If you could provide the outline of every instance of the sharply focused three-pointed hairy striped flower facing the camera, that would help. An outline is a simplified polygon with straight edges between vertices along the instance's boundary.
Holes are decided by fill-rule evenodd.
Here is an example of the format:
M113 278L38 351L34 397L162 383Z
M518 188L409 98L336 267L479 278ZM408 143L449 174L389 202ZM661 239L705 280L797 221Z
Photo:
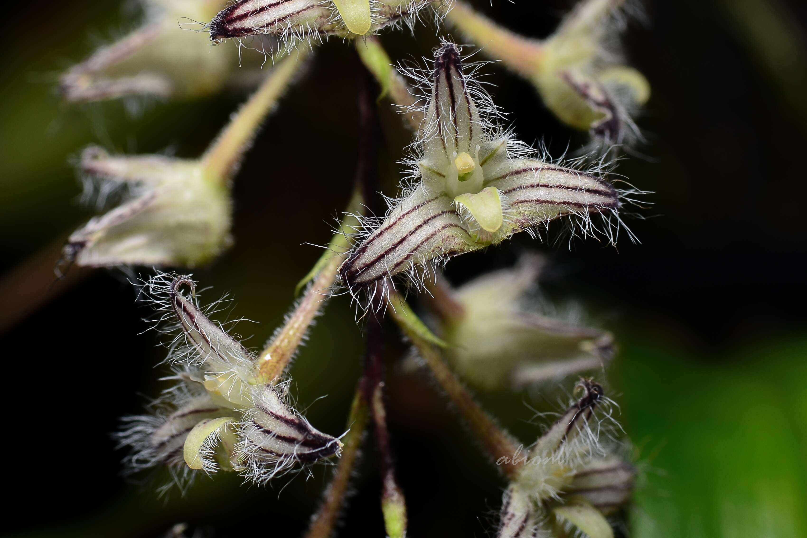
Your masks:
M562 216L575 217L588 235L597 233L592 214L618 222L620 200L608 181L529 156L531 149L493 126L495 106L462 72L458 47L445 43L434 57L412 159L416 181L341 266L343 282L370 286ZM604 234L615 239L610 228Z

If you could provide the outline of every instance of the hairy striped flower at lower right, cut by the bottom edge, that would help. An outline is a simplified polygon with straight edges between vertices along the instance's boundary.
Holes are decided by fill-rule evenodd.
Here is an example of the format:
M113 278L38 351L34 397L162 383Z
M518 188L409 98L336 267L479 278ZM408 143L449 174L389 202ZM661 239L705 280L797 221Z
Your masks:
M600 444L610 415L602 386L581 379L575 391L583 396L528 453L513 455L522 470L504 494L499 538L613 538L605 516L629 501L636 470Z

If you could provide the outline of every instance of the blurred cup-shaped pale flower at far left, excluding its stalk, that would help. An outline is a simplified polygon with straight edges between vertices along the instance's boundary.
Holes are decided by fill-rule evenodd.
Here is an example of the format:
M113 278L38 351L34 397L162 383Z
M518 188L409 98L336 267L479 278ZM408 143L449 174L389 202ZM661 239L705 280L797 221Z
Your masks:
M68 261L93 267L193 266L231 243L229 188L198 161L111 156L88 148L79 169L131 189L120 206L73 232L64 248Z

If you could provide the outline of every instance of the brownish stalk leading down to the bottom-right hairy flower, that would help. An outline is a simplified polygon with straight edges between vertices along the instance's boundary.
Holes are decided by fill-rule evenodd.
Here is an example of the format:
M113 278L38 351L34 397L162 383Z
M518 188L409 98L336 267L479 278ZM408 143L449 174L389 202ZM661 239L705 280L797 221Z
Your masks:
M418 321L413 323L412 319L407 319L413 316L411 309L403 309L399 306L405 304L403 298L397 292L390 293L390 309L395 322L398 323L403 333L412 341L420 353L420 357L424 358L429 369L437 379L445 393L448 394L451 402L457 407L462 418L466 420L471 432L482 443L485 452L495 462L505 461L504 465L497 465L498 468L508 477L515 478L521 464L512 463L513 454L516 453L519 447L518 441L513 438L507 431L500 427L495 420L475 402L470 391L462 384L459 378L454 375L454 372L449 369L445 364L441 352L433 344L426 340L421 330L416 330L413 327L423 326L423 323ZM396 307L397 306L397 307ZM434 337L435 340L437 336ZM504 459L503 459L504 458Z

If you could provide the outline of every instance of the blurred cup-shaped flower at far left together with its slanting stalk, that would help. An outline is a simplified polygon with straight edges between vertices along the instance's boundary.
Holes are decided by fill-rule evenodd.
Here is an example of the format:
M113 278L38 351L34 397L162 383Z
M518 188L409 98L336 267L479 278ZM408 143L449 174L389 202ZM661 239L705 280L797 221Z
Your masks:
M82 153L90 190L126 190L123 203L73 232L63 250L78 265L188 266L210 261L231 243L232 177L266 115L302 65L289 56L199 159Z

